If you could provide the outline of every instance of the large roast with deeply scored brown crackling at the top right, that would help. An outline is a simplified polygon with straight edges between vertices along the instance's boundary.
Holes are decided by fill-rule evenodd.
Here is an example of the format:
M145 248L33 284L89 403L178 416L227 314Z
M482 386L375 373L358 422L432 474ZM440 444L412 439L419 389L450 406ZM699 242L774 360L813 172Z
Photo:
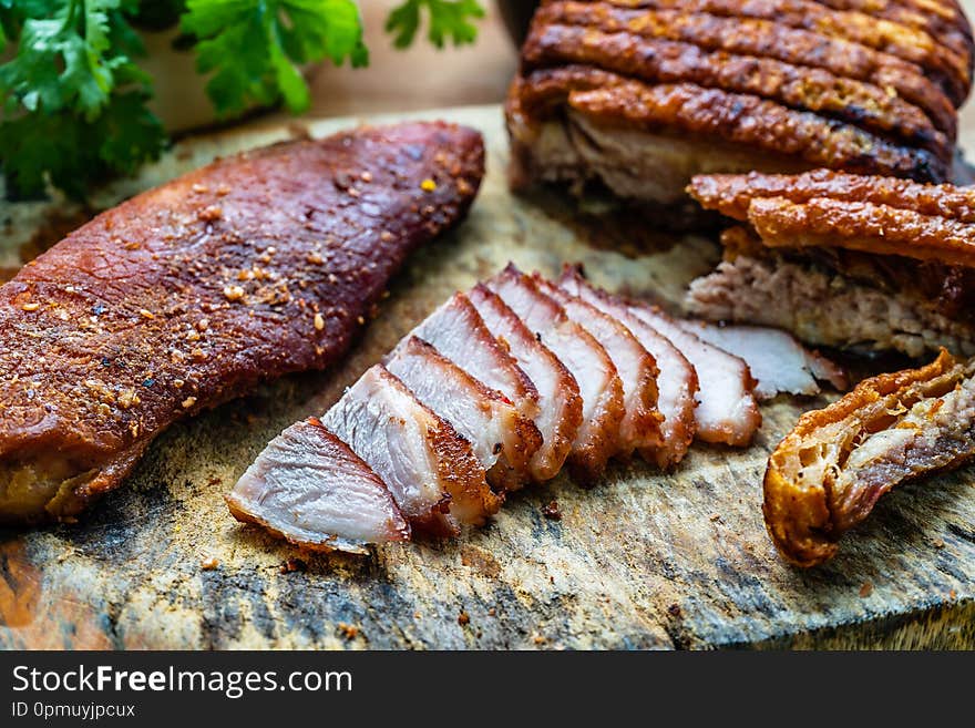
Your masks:
M954 0L892 4L545 2L506 103L512 184L673 207L700 173L945 181L971 28Z

